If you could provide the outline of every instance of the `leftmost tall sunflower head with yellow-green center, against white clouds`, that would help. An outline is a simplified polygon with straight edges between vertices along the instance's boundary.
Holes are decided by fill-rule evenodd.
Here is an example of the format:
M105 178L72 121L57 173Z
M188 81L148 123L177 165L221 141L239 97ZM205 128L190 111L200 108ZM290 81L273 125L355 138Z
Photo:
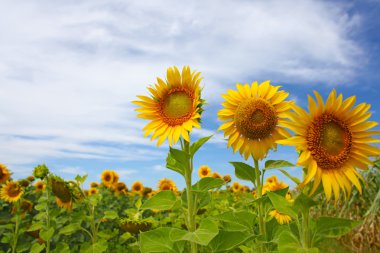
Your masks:
M151 96L137 96L133 101L140 106L136 109L139 118L150 120L143 128L144 137L152 134L151 140L158 138L160 146L166 138L173 146L182 136L190 142L189 132L193 127L200 128L200 118L204 101L200 98L199 72L191 72L183 67L182 74L177 67L167 70L166 82L157 78L155 86L148 87Z

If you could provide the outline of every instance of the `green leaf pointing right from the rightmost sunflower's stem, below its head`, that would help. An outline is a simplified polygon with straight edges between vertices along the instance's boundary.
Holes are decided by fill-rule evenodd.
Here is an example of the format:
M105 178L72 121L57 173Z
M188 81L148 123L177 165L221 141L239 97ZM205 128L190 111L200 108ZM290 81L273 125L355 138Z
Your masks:
M319 217L317 219L315 233L320 237L336 238L349 233L352 229L362 223L363 221L334 217Z

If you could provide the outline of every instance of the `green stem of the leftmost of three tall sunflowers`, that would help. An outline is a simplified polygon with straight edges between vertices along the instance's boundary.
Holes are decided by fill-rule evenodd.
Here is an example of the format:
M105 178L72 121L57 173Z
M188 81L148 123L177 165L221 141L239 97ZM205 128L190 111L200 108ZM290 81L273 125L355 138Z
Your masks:
M183 151L190 155L190 143L184 141ZM195 225L195 201L193 201L193 192L191 191L191 175L193 172L193 160L189 159L189 167L185 170L185 181L186 181L186 194L187 194L187 219L189 232L194 232L196 229ZM197 244L195 242L190 242L191 253L197 253Z

